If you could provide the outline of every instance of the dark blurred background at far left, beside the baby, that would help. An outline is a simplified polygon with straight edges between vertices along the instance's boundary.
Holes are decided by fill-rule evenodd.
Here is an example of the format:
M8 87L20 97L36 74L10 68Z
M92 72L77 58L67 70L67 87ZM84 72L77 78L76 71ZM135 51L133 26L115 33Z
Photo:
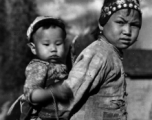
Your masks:
M26 31L35 16L32 0L0 0L0 105L22 92L24 70L32 58Z

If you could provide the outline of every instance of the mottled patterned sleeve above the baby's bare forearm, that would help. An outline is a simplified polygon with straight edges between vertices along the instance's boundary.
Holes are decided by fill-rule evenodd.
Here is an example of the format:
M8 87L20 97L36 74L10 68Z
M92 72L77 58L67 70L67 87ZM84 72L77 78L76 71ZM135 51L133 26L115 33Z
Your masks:
M24 84L24 95L31 102L31 94L34 89L43 89L47 75L47 65L41 62L30 63L25 70L26 80Z

